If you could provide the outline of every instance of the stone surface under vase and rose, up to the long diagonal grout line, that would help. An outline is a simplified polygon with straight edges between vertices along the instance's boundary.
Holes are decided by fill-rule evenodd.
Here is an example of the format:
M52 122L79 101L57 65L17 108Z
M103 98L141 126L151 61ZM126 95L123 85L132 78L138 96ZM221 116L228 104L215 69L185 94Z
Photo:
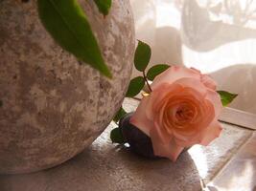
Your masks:
M126 99L128 112L138 102ZM168 159L138 157L114 145L109 132L79 156L58 167L34 174L0 176L1 191L198 191L201 182L212 179L236 153L252 131L223 124L223 134L208 147L195 146L174 163Z

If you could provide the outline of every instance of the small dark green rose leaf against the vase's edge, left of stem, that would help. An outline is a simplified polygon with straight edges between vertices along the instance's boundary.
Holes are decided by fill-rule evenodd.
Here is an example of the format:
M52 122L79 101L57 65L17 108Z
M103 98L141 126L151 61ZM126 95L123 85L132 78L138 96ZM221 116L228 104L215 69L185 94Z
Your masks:
M138 95L140 91L143 89L144 85L145 85L145 80L142 76L137 76L131 79L128 84L127 96L132 97L132 96Z

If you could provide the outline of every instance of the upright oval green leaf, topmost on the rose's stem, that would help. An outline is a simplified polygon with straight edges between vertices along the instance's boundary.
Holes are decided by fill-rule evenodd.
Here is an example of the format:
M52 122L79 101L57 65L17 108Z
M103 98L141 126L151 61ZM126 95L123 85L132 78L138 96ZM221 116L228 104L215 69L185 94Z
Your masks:
M144 72L148 64L150 63L150 60L151 47L148 44L139 41L134 56L135 68L140 72Z

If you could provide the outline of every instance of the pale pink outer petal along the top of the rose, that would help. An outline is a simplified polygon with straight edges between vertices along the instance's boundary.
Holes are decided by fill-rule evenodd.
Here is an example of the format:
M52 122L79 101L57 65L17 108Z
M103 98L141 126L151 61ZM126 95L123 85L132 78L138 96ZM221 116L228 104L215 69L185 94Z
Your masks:
M183 77L192 77L192 78L197 78L198 80L200 80L200 75L191 69L188 69L185 67L180 67L180 66L171 66L165 72L157 75L154 78L154 80L151 84L151 88L152 88L152 90L154 90L162 83L172 84L176 80L183 78Z

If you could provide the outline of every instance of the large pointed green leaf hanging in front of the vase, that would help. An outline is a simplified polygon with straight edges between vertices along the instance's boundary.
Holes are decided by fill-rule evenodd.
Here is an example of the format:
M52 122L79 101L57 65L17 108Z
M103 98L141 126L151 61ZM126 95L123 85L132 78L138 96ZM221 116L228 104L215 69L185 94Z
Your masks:
M77 0L37 0L38 13L45 29L67 52L111 77L91 30L86 15Z

